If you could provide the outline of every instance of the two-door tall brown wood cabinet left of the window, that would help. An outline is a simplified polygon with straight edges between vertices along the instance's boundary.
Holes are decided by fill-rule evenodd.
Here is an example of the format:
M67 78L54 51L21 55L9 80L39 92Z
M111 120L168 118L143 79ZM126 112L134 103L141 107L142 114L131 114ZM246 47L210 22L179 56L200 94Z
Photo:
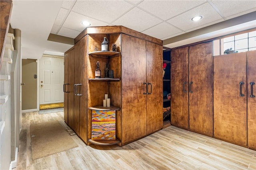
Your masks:
M171 124L213 136L212 42L171 51Z

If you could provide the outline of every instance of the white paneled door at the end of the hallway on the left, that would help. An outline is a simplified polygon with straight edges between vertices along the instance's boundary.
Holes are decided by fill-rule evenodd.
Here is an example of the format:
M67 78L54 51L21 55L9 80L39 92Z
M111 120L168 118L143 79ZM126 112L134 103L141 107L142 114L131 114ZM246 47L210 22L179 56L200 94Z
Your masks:
M40 104L64 102L64 59L40 59Z

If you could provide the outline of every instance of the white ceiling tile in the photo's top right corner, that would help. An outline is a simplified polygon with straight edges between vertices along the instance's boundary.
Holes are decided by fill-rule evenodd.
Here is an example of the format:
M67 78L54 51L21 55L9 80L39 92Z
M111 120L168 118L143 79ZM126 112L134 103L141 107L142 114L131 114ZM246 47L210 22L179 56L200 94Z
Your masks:
M256 8L255 0L212 0L212 3L220 10L224 17L232 16L240 12Z

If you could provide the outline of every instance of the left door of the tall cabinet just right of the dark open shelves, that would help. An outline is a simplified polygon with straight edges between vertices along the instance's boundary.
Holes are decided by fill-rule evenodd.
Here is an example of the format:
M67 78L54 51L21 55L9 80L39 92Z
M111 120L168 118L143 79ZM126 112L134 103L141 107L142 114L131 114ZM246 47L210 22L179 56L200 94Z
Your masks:
M171 124L188 129L188 47L171 51L171 94Z

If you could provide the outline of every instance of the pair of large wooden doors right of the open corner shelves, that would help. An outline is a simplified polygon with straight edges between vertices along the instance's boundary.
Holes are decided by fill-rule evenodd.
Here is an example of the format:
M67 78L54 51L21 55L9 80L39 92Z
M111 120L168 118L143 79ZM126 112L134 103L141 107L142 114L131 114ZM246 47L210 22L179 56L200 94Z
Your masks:
M125 34L122 41L122 141L127 143L163 126L162 46Z

